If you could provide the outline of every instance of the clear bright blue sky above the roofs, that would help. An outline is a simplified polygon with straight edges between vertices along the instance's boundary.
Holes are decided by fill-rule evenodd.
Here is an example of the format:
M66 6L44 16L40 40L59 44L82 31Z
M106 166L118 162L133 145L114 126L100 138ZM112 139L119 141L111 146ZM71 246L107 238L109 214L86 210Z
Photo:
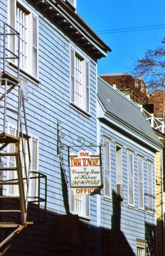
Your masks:
M143 57L147 49L159 46L165 37L164 0L77 0L77 13L112 49L98 61L98 74L130 72L134 61ZM137 27L145 30L101 32Z

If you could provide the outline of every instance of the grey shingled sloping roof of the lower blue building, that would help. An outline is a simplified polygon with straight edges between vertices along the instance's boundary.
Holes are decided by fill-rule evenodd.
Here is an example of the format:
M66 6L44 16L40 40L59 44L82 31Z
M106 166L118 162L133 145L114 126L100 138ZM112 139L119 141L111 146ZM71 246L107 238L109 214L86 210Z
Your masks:
M98 99L104 108L104 116L98 116L98 118L108 120L156 150L163 147L145 116L141 113L138 104L129 100L123 93L114 89L100 77L98 77Z

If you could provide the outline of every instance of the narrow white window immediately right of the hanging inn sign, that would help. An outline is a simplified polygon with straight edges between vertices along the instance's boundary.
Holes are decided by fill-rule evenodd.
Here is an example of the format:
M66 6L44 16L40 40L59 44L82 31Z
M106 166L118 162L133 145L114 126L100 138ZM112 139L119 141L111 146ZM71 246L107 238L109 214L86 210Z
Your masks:
M104 138L104 196L111 197L110 141Z

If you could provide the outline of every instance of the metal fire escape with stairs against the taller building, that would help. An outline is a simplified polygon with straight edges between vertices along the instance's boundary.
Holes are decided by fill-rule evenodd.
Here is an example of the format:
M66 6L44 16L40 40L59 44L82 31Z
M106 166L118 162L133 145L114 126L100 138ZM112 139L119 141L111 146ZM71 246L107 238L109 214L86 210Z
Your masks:
M9 42L15 46L13 49L17 49L17 52L15 49L11 51L12 47L8 47ZM7 234L3 241L0 241L0 254L3 255L12 245L15 236L33 224L33 221L27 221L28 200L31 203L35 202L38 209L40 202L44 202L44 207L46 207L46 192L45 198L40 198L40 179L44 179L43 186L46 187L46 177L41 173L35 173L36 179L39 179L38 198L36 196L29 198L29 182L30 179L34 179L34 175L31 175L33 172L31 172L24 92L20 85L20 35L15 29L4 23L0 43L2 67L0 70L0 230L3 234ZM13 74L6 71L10 61L16 70ZM17 134L14 136L7 129L7 122L11 120L17 126ZM28 146L28 164L26 163L24 138L26 138ZM12 152L8 152L8 148L12 148ZM9 164L11 157L15 163L13 166ZM15 174L13 175L12 172ZM7 191L10 188L15 191L15 186L19 188L17 189L18 193L12 196L8 195L10 193Z

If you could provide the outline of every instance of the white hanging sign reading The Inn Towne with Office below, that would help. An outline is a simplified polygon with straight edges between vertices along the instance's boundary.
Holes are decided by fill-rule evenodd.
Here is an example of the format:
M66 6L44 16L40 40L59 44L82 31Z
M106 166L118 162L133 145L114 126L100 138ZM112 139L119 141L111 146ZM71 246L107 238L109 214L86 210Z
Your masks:
M89 195L102 188L100 155L90 151L70 153L70 188L75 194Z

